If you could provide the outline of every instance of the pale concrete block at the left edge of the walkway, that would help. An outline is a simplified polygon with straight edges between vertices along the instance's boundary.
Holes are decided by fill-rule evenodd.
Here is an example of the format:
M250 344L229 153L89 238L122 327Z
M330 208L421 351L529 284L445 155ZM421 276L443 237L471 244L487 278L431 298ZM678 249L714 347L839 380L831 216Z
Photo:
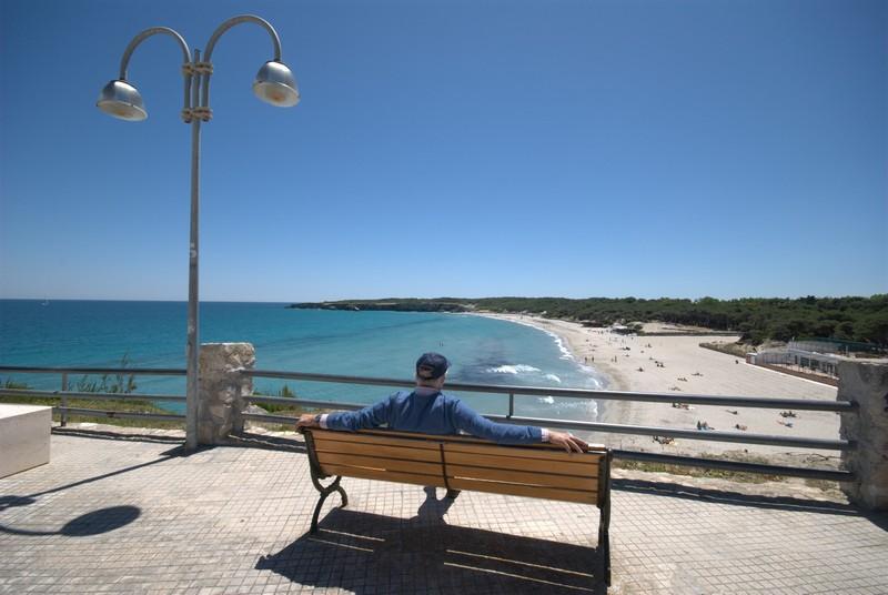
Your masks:
M52 407L0 404L0 477L49 463Z

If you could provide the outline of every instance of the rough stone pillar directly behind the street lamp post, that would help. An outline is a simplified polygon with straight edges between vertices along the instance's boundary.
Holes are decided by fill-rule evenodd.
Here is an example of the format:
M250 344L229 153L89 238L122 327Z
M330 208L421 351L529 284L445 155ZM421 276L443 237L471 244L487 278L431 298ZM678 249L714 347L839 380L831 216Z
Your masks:
M241 374L252 369L256 351L250 343L205 343L200 351L198 444L223 444L232 432L243 430L243 397L252 394L253 379Z

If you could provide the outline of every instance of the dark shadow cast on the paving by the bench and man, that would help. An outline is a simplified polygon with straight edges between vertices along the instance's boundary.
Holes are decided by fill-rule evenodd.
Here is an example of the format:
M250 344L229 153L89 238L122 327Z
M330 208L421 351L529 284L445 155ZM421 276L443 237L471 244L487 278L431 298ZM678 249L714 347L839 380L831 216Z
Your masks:
M594 547L448 525L441 518L446 498L438 502L410 520L334 508L315 535L263 556L255 568L359 595L606 593Z

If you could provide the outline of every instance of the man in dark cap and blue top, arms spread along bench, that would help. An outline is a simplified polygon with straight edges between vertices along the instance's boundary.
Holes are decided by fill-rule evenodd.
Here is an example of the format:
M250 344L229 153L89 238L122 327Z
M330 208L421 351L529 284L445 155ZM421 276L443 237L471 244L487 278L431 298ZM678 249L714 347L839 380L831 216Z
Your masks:
M416 387L398 391L360 411L304 413L296 427L322 427L354 432L387 425L391 430L423 434L458 434L500 444L548 442L565 451L582 453L588 444L567 432L532 425L500 424L480 415L456 397L441 392L450 362L440 353L424 353L416 361Z

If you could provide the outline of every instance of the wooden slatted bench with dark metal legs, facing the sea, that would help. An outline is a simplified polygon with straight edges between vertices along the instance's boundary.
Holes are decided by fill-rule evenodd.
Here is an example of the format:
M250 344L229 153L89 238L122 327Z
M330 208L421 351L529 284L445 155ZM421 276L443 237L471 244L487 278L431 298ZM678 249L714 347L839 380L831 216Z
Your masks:
M598 557L610 584L610 451L591 445L566 453L551 444L502 445L471 436L435 436L387 430L334 432L301 428L309 452L312 483L321 493L312 516L317 532L321 506L339 492L343 477L436 486L593 504L601 510ZM324 486L321 480L335 476Z

